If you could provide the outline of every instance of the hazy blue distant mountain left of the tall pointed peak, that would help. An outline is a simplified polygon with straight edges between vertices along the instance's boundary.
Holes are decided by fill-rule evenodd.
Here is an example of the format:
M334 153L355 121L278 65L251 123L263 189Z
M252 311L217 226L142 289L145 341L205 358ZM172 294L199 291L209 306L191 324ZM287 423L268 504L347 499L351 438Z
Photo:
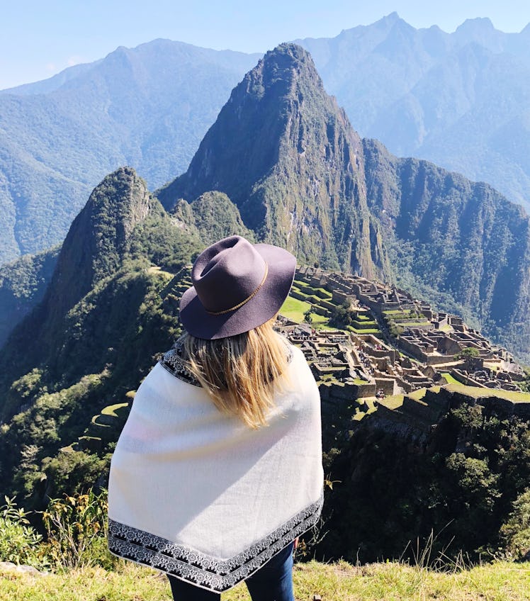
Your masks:
M257 57L154 40L1 92L0 263L61 242L119 165L150 186L182 172Z

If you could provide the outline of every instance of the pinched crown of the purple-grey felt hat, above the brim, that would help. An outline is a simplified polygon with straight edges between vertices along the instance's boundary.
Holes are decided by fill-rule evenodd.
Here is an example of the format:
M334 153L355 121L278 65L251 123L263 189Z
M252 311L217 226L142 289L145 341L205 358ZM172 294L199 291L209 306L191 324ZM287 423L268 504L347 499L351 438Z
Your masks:
M242 236L230 236L199 254L191 281L205 310L215 315L252 298L266 272L266 262L254 245Z

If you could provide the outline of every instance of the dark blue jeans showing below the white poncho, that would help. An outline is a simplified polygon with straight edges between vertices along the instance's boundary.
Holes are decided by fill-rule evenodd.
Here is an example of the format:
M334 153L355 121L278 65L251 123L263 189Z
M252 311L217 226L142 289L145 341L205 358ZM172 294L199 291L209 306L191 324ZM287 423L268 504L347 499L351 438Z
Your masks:
M220 593L205 590L168 575L174 601L219 601ZM288 544L245 580L252 601L295 601L293 543Z

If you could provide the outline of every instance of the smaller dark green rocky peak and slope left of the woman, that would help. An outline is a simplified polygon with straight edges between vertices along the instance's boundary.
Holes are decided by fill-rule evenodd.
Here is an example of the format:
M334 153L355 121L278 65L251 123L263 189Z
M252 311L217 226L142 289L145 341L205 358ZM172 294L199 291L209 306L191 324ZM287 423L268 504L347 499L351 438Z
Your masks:
M38 504L72 478L95 481L103 465L96 455L60 448L79 437L90 444L91 418L127 403L153 356L171 347L179 332L179 274L202 246L133 169L120 168L96 186L64 240L43 300L0 354L4 490Z

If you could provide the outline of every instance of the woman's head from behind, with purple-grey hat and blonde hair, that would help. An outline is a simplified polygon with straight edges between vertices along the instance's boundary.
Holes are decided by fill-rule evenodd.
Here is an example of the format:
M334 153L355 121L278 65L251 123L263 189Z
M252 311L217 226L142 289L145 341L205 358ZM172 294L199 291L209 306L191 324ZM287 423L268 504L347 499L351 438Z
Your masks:
M181 298L189 368L220 410L250 427L266 424L286 373L288 350L272 322L295 269L285 249L230 236L199 254Z

